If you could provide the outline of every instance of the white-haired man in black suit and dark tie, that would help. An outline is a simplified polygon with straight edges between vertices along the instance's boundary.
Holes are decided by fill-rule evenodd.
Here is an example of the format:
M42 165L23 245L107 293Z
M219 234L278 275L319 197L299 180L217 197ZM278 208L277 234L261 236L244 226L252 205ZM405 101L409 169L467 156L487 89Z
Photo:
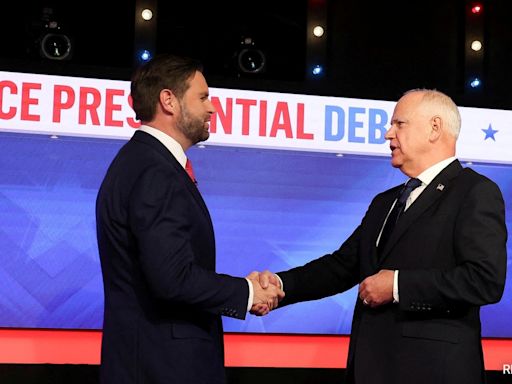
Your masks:
M332 254L277 276L260 274L263 286L270 282L286 292L280 305L359 284L350 383L485 381L480 307L503 293L505 208L498 186L455 158L460 125L457 106L445 94L404 94L386 139L391 164L418 179L416 188L408 188L407 199L398 197L404 186L377 195ZM253 313L259 314L257 308Z

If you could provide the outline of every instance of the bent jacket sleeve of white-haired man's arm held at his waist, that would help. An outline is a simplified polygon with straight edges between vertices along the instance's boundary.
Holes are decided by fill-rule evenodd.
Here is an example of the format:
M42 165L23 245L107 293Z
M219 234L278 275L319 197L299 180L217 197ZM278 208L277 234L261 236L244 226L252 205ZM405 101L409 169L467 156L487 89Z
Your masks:
M401 270L400 308L452 309L498 302L507 267L507 229L502 194L481 179L465 196L453 231L455 267L448 270ZM423 308L424 309L424 308Z

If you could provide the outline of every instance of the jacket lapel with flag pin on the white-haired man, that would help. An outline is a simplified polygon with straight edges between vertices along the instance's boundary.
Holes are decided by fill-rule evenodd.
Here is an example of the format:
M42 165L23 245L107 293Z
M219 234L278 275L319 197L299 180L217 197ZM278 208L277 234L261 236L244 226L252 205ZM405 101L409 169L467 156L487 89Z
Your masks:
M443 169L418 196L414 203L402 214L397 222L391 236L384 248L380 262L382 262L389 254L397 241L407 232L408 228L438 199L440 199L446 191L450 189L453 179L462 171L462 165L458 160L450 163ZM388 208L389 209L389 208ZM384 214L385 215L385 214Z

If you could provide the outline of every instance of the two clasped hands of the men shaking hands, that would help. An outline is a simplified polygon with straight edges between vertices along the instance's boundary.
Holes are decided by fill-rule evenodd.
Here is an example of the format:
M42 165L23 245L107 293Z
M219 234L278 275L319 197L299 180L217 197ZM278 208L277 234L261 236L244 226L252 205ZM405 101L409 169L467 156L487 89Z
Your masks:
M270 271L251 272L246 276L252 283L253 302L250 312L256 316L264 316L277 308L284 298L281 281L276 274Z

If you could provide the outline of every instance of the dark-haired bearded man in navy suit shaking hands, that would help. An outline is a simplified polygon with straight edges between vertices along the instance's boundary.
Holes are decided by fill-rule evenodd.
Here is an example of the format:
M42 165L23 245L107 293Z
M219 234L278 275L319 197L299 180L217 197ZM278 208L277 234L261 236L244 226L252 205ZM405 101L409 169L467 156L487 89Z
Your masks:
M253 275L215 272L210 215L185 170L185 151L208 139L215 112L200 63L155 57L134 73L131 96L142 126L96 202L101 383L221 384L221 315L244 319L253 304L271 309L283 293L262 289Z

